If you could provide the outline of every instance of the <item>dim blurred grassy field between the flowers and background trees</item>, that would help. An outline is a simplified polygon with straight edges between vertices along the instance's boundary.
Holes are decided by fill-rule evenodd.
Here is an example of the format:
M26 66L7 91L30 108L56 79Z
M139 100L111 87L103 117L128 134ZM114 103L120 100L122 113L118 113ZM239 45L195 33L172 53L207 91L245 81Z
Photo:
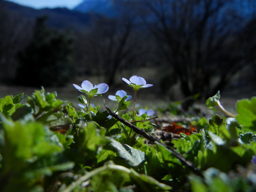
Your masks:
M136 107L147 107L153 110L157 108L167 108L169 103L172 102L170 98L176 98L175 101L182 101L184 98L180 92L179 86L175 85L172 90L173 92L168 94L161 94L159 88L159 69L154 67L143 67L136 71L124 71L120 72L116 75L115 85L109 86L109 90L106 93L102 94L102 97L94 97L92 99L92 103L95 105L99 105L103 107L103 99L105 99L106 104L110 108L116 108L117 103L108 99L108 95L115 95L117 90L124 90L128 95L132 95L133 98L133 90L131 87L128 87L127 84L122 80L122 77L129 79L132 75L143 76L148 84L153 84L152 87L147 89L141 89L137 93ZM244 77L243 77L244 78ZM243 79L242 78L242 79ZM72 85L77 84L81 85L84 80L89 80L92 84L105 83L104 78L101 76L79 76L76 77L72 82L68 83L65 87L45 87L46 92L56 91L58 94L58 99L67 100L71 102L76 108L78 108L78 100L77 97L82 92L76 90L76 88ZM39 90L40 87L23 87L23 86L15 86L15 85L5 85L0 83L0 98L5 97L6 95L17 95L22 92L25 95L30 96L34 90ZM170 94L173 94L172 97ZM255 83L251 81L247 81L243 84L241 81L241 74L237 74L234 76L233 80L230 84L228 84L224 90L220 92L222 105L230 110L231 112L235 112L236 101L243 98L251 98L252 96L256 96L256 86ZM133 99L132 99L133 100ZM24 99L23 102L26 102ZM132 101L133 102L133 101ZM201 108L205 108L205 100L197 101L197 104ZM132 108L132 104L130 106Z

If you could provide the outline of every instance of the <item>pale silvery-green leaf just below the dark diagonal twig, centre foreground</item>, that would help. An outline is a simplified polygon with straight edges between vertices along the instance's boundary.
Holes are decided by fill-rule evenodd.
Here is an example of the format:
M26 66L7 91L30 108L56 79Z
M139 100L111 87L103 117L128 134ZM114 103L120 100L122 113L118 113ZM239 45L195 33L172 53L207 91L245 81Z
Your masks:
M126 162L133 166L139 166L146 161L146 155L139 149L130 147L129 145L119 143L115 139L110 138L111 145L118 151L118 156L126 160Z

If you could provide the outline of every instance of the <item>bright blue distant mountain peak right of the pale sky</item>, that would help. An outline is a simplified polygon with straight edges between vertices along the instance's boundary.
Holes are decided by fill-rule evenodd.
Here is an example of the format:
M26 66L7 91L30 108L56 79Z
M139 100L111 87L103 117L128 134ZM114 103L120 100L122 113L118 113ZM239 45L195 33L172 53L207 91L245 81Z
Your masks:
M101 15L115 16L116 10L112 0L84 0L73 10L80 12L93 12Z

